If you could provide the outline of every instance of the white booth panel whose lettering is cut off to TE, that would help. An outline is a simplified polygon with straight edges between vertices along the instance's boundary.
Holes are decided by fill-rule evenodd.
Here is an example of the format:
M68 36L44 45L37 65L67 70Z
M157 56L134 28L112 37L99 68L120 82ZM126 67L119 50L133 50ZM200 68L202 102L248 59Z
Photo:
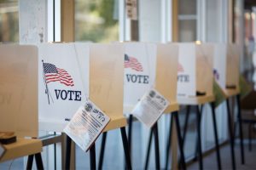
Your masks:
M178 43L177 96L195 96L195 43Z

